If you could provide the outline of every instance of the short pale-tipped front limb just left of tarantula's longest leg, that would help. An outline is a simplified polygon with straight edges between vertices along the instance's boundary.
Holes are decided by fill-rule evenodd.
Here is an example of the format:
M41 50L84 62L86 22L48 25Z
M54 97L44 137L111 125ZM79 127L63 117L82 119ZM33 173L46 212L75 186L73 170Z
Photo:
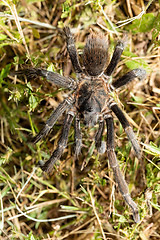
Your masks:
M106 151L106 143L102 141L102 135L104 131L104 119L99 119L99 128L95 136L95 145L100 154Z

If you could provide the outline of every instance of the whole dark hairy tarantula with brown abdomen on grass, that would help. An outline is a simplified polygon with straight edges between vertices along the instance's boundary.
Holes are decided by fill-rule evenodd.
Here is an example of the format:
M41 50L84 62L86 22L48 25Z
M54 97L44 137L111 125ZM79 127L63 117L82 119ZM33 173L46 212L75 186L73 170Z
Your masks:
M17 75L24 74L27 77L42 76L54 84L73 90L73 93L53 111L52 115L47 120L46 125L35 138L35 143L37 143L43 136L46 136L60 115L67 110L58 146L52 153L50 159L42 166L42 169L50 173L54 163L61 157L63 150L67 145L68 134L73 119L76 157L78 157L82 147L80 119L83 118L84 123L87 126L94 126L96 123L99 124L95 136L95 145L100 153L105 152L105 143L102 141L102 135L106 124L109 163L113 169L115 180L118 183L121 194L133 210L134 221L138 222L140 218L137 205L130 197L128 186L119 169L115 154L112 112L115 113L121 122L139 159L141 158L141 149L129 122L122 110L110 96L110 93L114 89L131 82L136 77L140 80L144 79L146 71L141 68L134 69L110 84L108 80L121 57L124 46L126 45L125 38L122 39L122 41L119 41L116 45L111 61L108 64L108 42L106 38L103 35L91 33L84 47L82 68L78 60L78 54L70 28L65 27L64 33L70 59L77 75L77 81L40 68L24 69L16 72Z

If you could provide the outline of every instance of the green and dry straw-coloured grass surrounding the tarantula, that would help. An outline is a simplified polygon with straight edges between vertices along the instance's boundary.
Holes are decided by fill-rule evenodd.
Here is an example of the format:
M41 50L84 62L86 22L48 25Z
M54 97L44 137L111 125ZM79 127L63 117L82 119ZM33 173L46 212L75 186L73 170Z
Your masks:
M136 1L130 6L126 1L0 2L1 239L160 238L160 14L159 3L149 3L140 19L116 28L121 25L118 21L140 14L142 6ZM146 80L135 80L113 95L127 112L143 151L139 162L115 118L117 158L138 204L138 224L115 185L107 154L99 155L94 148L97 126L89 130L81 124L83 148L78 161L72 151L72 125L68 147L52 175L36 167L56 147L63 116L43 141L34 145L30 139L68 91L45 79L14 78L10 70L27 65L75 78L59 30L67 25L75 32L80 55L90 29L108 33L111 52L127 31L129 44L113 77L137 67L147 70ZM106 134L105 130L104 140Z

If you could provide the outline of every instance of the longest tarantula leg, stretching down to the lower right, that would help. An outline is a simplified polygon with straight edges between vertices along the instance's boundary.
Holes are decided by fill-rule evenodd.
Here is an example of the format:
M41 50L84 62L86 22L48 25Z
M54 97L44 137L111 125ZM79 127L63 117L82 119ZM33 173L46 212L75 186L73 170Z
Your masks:
M122 196L124 197L125 201L127 202L127 204L132 208L133 218L134 218L134 221L137 223L140 221L138 208L136 203L132 200L129 194L128 186L119 169L117 157L114 150L114 123L113 123L112 115L107 114L105 120L107 124L107 152L108 152L109 163L113 169L113 173L115 176L115 180L118 183L119 190Z

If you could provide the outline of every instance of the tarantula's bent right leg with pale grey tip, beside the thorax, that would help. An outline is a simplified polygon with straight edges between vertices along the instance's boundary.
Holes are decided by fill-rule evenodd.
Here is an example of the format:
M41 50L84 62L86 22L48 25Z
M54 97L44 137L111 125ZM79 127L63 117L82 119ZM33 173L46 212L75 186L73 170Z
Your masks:
M146 71L142 68L136 68L131 70L130 72L123 75L121 78L117 79L112 83L112 86L114 88L119 88L129 82L131 82L133 79L138 78L139 80L143 80L146 77Z

